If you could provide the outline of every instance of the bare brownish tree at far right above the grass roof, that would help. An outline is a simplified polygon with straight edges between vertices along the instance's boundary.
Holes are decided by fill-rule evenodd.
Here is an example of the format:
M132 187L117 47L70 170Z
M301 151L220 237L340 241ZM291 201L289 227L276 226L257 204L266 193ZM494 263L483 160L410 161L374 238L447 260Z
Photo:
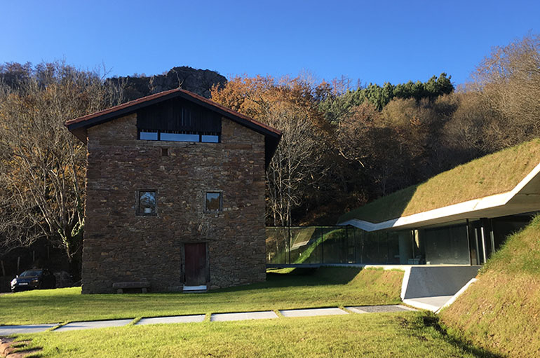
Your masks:
M490 151L540 135L540 35L493 48L471 80L468 92L478 93L493 114L483 133Z

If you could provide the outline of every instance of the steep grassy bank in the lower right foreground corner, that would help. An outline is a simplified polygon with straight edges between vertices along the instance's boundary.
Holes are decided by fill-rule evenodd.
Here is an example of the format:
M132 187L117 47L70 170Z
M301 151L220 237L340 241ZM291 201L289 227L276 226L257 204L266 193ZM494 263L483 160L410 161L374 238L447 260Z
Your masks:
M441 312L461 339L509 357L540 355L540 216L508 237L478 282Z

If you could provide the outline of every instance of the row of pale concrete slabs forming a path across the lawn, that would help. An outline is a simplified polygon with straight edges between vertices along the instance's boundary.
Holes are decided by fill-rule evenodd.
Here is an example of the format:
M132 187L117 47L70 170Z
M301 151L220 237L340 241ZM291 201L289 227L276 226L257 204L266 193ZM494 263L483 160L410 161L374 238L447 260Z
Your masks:
M372 312L397 312L414 310L403 305L379 305L379 306L356 306L347 307L347 310L356 313L372 313ZM349 315L349 312L339 308L306 308L302 310L280 310L283 317L315 317L315 316L331 316L331 315ZM250 319L276 319L279 318L273 311L259 312L232 312L232 313L213 313L210 316L210 322L227 322L227 321L245 321ZM188 323L188 322L203 322L205 315L185 315L185 316L170 316L170 317L149 317L142 318L136 325L140 324L170 324L170 323ZM71 322L60 326L53 331L75 331L79 329L95 329L104 327L119 327L126 326L133 322L133 319L109 319L103 321L87 321L87 322ZM20 333L38 333L58 326L58 324L32 324L24 326L0 326L0 336L9 336L11 334Z

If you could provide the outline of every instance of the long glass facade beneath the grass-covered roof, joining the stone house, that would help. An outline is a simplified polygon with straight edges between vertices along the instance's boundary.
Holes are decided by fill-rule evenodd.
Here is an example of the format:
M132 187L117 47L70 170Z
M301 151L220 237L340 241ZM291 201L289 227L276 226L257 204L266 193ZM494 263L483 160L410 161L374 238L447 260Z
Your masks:
M266 227L266 263L481 265L532 215L367 232L352 226Z

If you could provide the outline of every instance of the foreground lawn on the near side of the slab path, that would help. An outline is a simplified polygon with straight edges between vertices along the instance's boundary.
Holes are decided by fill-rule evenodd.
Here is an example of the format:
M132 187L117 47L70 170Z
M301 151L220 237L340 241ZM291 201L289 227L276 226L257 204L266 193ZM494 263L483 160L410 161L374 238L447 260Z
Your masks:
M125 326L20 336L41 357L490 357L421 312Z

